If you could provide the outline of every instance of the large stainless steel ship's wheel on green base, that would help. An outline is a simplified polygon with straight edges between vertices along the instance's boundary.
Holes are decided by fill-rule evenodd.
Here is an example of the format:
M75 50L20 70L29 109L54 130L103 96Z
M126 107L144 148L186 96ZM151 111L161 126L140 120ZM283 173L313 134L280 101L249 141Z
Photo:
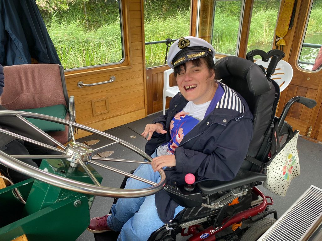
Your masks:
M4 152L0 151L0 163L7 166L8 168L11 168L17 172L23 173L25 175L31 176L35 179L41 180L45 183L49 183L61 188L69 189L75 192L81 192L86 194L92 194L92 195L98 195L98 196L105 196L105 197L118 197L118 198L135 198L135 197L143 197L152 195L158 191L160 191L166 182L166 175L163 169L161 168L159 173L161 176L161 180L159 183L154 183L149 180L140 178L138 176L129 174L127 172L118 170L116 168L110 167L105 164L101 164L97 162L98 160L104 160L104 161L116 161L116 162L124 162L124 163L138 163L138 164L151 164L152 158L147 155L145 152L140 150L139 148L131 145L130 143L123 141L119 138L116 138L112 135L109 135L105 132L75 123L71 121L62 120L56 117L42 115L42 114L36 114L36 113L30 113L30 112L21 112L21 111L0 111L0 116L16 116L17 118L24 121L26 124L28 124L31 128L33 128L35 131L41 133L44 137L50 139L56 146L61 147L62 149L52 147L50 145L38 142L36 140L15 134L13 132L0 129L0 132L6 133L8 135L14 136L16 138L22 139L24 141L32 142L34 144L37 144L42 147L47 147L48 149L52 149L55 151L58 151L61 153L61 155L7 155ZM57 122L60 124L68 125L70 130L74 128L78 128L81 130L85 130L87 132L97 134L99 136L102 136L104 138L108 138L112 140L113 142L95 149L92 149L91 147L79 143L75 141L75 137L71 131L71 138L72 141L69 142L66 146L64 146L62 143L58 142L51 136L49 136L47 133L43 132L41 129L34 126L32 123L24 119L24 117L30 117L30 118L36 118L41 119L45 121L52 121ZM120 144L124 147L127 147L128 149L136 152L140 156L144 157L148 162L144 161L133 161L133 160L123 160L123 159L112 159L112 158L99 158L99 157L92 157L93 152L97 152L100 149L103 149L105 147L109 147L114 144ZM66 159L70 162L71 167L78 167L78 165L81 165L86 173L90 176L94 184L88 184L88 183L82 183L79 181L74 181L68 178L64 178L58 175L54 175L51 173L48 173L46 171L43 171L41 169L38 169L36 167L27 165L19 159ZM98 165L100 167L106 168L108 170L117 172L119 174L129 176L132 178L135 178L139 181L151 184L151 187L149 188L143 188L143 189L119 189L119 188L111 188L111 187L103 187L99 184L99 182L96 180L94 175L90 172L89 168L86 164L92 164L92 165Z

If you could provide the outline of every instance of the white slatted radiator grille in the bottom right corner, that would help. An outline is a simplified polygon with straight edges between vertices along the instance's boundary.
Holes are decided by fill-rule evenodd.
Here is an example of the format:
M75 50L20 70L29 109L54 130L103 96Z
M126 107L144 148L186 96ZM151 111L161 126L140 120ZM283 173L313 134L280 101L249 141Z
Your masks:
M300 241L322 217L322 189L310 188L258 241Z

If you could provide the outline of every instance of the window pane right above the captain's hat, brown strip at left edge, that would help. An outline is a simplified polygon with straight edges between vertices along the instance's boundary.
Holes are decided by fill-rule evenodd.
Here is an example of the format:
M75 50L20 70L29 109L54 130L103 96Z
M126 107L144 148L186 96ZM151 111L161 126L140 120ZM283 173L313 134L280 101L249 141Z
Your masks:
M198 37L212 43L216 53L237 56L243 7L243 0L201 0Z

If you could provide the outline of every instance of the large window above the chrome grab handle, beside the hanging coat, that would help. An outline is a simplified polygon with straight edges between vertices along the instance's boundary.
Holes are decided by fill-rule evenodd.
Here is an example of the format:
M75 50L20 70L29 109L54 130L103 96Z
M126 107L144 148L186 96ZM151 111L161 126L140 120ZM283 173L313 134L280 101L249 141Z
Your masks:
M36 0L65 69L123 62L121 1Z

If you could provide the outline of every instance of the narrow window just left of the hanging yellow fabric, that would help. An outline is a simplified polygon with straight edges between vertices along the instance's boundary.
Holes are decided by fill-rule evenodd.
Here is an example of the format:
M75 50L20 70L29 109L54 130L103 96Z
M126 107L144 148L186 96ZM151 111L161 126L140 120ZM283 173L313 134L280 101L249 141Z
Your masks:
M261 49L268 52L273 47L280 0L255 0L251 14L247 52Z

